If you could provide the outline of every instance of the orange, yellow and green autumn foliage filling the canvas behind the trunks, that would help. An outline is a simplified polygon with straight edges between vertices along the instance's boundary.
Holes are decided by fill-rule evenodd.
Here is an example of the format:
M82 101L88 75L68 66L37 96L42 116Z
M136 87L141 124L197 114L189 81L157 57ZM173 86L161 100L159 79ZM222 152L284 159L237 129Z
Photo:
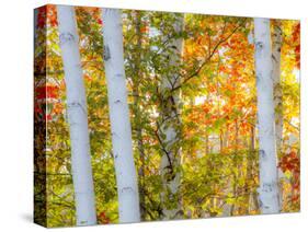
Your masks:
M159 171L162 146L158 134L163 97L160 85L170 73L179 73L181 80L172 91L181 96L176 146L181 148L183 218L258 214L259 134L252 19L187 13L183 32L176 34L172 27L174 15L123 11L125 71L144 220L160 220L162 216ZM118 211L103 66L101 32L104 25L99 8L76 8L76 16L88 101L98 221L115 223ZM281 22L284 130L278 167L282 211L290 212L298 211L300 202L300 24L288 20ZM44 162L50 227L72 225L76 220L66 84L57 26L54 5L38 9L34 117L36 124L47 125L46 131L36 131L35 140L42 144L42 136L47 135ZM183 38L184 50L182 61L170 66L174 49L168 47L168 39L174 37ZM36 148L36 153L42 147ZM42 171L39 159L35 172Z

